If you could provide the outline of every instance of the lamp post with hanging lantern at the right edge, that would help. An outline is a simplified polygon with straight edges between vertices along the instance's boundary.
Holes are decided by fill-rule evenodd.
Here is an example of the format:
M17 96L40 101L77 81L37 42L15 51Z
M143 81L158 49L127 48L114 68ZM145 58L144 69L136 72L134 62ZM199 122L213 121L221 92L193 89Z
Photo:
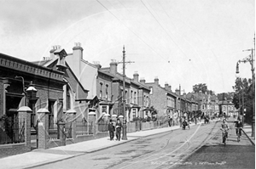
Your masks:
M253 81L253 89L255 86L255 80L254 80L254 67L253 67L253 48L252 49L248 49L248 50L244 50L244 51L252 51L252 54L250 54L249 56L247 56L245 59L241 59L238 60L237 64L236 64L236 73L239 73L239 64L240 63L247 63L249 62L251 64L251 70L252 70L252 81ZM243 110L242 110L243 111ZM252 121L252 137L255 138L255 94L253 96L253 121Z

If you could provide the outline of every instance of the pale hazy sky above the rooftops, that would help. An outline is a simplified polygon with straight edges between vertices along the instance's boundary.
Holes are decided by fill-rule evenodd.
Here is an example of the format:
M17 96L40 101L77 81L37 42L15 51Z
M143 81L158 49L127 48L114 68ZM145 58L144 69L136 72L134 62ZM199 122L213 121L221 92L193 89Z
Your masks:
M0 0L0 53L42 60L60 45L84 48L84 60L160 85L206 83L215 93L233 92L236 77L251 78L249 63L236 63L254 48L254 0ZM118 70L122 73L122 65Z

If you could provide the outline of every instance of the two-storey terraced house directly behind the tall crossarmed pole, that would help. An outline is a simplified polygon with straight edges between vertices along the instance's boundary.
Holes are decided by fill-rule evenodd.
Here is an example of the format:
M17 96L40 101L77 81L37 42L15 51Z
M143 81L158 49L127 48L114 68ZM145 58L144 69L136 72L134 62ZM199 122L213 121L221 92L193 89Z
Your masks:
M102 68L100 71L108 76L112 76L112 101L113 111L110 115L124 115L127 121L132 121L135 117L145 117L150 113L149 93L150 89L138 82L138 74L134 74L133 79L125 76L125 89L123 88L123 75L118 72L118 63L110 63L110 67ZM123 112L123 91L125 90L125 112Z

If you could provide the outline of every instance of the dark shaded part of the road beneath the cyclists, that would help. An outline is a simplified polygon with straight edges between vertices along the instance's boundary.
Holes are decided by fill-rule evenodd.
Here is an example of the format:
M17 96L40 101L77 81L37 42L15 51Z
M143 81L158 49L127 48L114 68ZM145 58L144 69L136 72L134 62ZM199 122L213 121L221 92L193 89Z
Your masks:
M201 149L184 161L173 164L172 168L255 168L255 146L244 133L241 134L241 142L238 143L234 124L229 122L229 125L226 146L221 143L222 133L218 131Z

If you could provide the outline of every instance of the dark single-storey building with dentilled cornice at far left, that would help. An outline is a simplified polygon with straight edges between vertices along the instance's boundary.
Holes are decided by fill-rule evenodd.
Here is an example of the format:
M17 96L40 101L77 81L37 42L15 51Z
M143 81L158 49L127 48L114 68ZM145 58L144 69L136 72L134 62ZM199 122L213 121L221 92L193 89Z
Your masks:
M55 127L53 121L57 121L58 108L62 98L63 72L51 70L22 59L16 59L5 54L0 54L1 68L1 107L0 115L8 113L9 110L17 110L20 106L27 104L32 109L32 114L36 114L40 108L52 108L50 111L50 127ZM24 87L28 87L30 82L37 89L37 100L28 100L23 92L22 77Z

